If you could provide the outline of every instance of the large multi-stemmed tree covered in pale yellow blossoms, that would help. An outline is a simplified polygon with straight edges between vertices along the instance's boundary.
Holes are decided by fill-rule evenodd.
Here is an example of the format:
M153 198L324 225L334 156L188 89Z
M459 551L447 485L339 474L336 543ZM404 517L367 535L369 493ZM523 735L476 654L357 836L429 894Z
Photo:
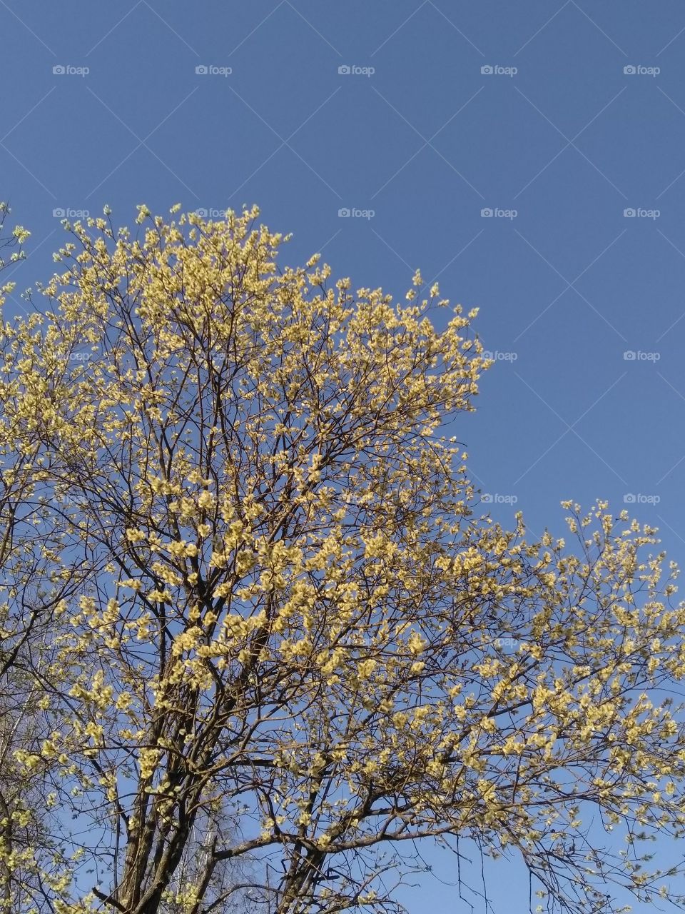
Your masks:
M476 311L438 331L419 272L394 305L279 269L257 218L67 225L47 305L3 328L71 588L50 732L15 752L58 779L50 909L398 910L419 839L518 854L550 909L679 900L638 855L685 822L656 531L566 502L573 551L479 515L445 426L490 365Z

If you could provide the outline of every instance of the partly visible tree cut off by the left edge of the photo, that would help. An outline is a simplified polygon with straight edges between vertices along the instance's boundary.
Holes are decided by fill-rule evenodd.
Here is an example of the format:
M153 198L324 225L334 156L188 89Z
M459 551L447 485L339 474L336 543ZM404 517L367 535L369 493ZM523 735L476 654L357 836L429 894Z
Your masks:
M0 204L0 233L9 214ZM0 236L0 271L24 259L28 235L16 226ZM14 287L0 288L0 304ZM57 804L54 766L37 753L52 717L44 673L54 654L55 611L88 570L79 571L80 558L76 566L64 560L69 544L59 510L50 510L45 449L14 409L20 384L12 378L11 335L2 334L0 356L0 909L14 911L47 903L48 874L56 866L57 878L63 875L46 814Z

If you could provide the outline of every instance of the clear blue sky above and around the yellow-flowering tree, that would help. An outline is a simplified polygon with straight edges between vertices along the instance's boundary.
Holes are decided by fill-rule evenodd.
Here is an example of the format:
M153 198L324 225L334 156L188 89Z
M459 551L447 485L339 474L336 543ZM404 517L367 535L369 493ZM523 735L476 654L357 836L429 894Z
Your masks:
M284 262L397 296L420 267L499 354L454 431L492 514L564 535L561 499L634 496L685 560L679 0L0 0L0 36L17 291L54 269L53 210L104 204L258 203ZM526 909L521 869L489 871ZM469 910L422 886L412 914Z

